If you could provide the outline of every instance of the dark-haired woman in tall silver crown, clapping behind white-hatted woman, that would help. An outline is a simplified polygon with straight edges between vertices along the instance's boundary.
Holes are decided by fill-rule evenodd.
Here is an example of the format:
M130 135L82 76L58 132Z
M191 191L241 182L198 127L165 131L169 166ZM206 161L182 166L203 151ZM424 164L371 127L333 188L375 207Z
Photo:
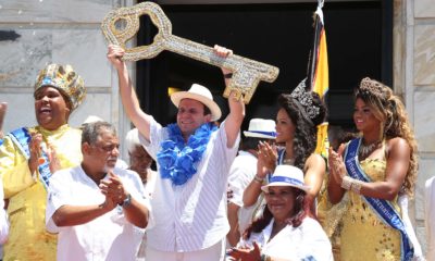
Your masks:
M315 198L318 197L326 171L326 161L316 148L316 126L322 124L326 108L319 95L307 90L302 80L290 94L278 97L279 110L276 114L276 144L285 148L276 149L263 144L260 146L259 158L265 158L269 172L273 173L276 165L294 165L304 173L304 182L311 187L307 192L306 207L315 216ZM244 194L244 204L252 206L261 192L261 185L269 178L266 174L258 173Z

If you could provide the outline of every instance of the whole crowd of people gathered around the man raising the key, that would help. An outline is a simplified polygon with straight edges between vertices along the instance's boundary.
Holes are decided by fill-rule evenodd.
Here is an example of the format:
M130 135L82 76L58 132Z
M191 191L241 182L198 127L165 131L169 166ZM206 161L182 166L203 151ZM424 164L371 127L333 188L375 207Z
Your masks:
M233 91L221 121L198 84L171 95L176 122L159 124L140 109L124 53L109 46L107 57L135 125L123 144L127 164L112 124L69 125L86 97L70 65L39 72L37 126L3 135L0 103L3 260L424 260L407 209L417 141L388 86L361 80L358 133L334 140L325 158L314 150L326 107L306 79L277 97L275 120L250 119L241 138L243 100ZM222 73L227 85L232 72ZM435 259L434 184L425 189L427 260ZM328 208L319 219L321 197Z

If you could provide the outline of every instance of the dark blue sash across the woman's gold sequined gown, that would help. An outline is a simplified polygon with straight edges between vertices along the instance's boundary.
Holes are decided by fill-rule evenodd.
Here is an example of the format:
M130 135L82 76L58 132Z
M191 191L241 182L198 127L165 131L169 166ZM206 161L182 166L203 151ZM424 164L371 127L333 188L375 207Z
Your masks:
M349 176L352 178L362 182L372 182L364 171L362 171L358 161L358 149L361 145L361 138L352 139L347 146L345 151L346 170ZM400 247L402 250L400 251L400 260L412 260L414 256L413 247L409 240L407 232L405 231L405 225L400 219L400 214L397 213L391 203L388 200L365 197L362 195L361 197L371 207L371 209L374 210L377 217L380 217L385 224L388 224L393 228L400 232Z

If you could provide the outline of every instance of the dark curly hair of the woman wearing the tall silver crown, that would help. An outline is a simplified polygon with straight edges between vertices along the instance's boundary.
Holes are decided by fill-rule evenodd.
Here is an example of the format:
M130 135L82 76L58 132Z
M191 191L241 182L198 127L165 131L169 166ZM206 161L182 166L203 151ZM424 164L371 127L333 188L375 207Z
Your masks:
M312 105L319 108L319 114L313 119L307 119L301 112L298 100L290 95L279 95L278 104L284 109L295 125L295 139L293 150L295 154L295 166L304 170L304 163L311 153L315 150L316 145L316 126L323 123L326 115L326 107L320 99L319 95L310 91ZM303 110L303 108L302 108Z

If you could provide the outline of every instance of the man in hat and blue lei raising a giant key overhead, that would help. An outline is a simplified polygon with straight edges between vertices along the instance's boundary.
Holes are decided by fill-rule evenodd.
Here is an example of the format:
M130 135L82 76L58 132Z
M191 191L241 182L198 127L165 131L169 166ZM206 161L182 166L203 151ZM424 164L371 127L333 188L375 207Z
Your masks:
M215 47L221 57L231 53ZM171 96L178 108L176 124L162 127L141 111L129 79L125 51L110 46L108 58L117 71L124 109L140 133L140 141L158 163L152 197L156 226L147 232L147 261L223 260L226 187L236 157L245 105L232 92L229 114L217 128L221 110L210 90L194 84ZM225 75L225 70L223 69ZM229 80L231 74L225 75Z

